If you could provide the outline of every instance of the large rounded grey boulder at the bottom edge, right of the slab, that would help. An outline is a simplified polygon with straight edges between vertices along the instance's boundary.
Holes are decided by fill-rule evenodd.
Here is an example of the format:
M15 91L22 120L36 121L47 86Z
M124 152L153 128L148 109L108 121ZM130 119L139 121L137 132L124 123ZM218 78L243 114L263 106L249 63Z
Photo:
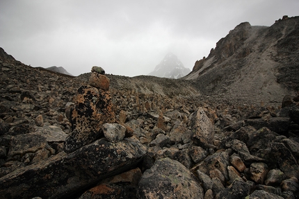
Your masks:
M169 158L159 159L143 173L138 198L203 198L195 176L183 164Z

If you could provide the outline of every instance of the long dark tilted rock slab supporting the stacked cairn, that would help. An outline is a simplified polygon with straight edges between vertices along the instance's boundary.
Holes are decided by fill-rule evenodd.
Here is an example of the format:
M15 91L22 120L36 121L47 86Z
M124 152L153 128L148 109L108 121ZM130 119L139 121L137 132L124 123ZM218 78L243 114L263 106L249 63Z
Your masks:
M137 139L99 139L73 153L59 153L0 178L1 198L65 198L99 180L122 173L147 153Z

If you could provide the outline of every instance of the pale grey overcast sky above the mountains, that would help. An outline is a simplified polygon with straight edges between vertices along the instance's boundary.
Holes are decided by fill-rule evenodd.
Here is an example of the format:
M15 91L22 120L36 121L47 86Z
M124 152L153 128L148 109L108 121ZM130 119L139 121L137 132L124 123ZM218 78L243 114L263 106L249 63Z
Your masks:
M1 0L0 47L74 76L94 65L147 75L169 52L192 70L241 22L271 26L298 10L298 0Z

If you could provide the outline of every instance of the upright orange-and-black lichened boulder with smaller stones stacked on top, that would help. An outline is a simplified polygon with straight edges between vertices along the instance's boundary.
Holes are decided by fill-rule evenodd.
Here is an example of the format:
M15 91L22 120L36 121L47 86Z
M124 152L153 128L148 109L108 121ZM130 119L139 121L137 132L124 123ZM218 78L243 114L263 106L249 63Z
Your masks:
M110 80L101 67L92 67L91 71L89 85L79 87L75 105L70 110L72 132L65 140L67 153L99 139L102 125L115 122L111 94L108 91Z

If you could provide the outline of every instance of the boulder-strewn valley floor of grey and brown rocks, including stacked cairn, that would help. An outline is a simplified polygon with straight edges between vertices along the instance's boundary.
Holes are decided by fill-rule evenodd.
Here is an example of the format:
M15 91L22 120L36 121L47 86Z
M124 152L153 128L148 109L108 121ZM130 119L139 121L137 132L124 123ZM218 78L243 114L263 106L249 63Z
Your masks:
M298 97L215 104L186 82L0 66L0 198L298 197Z

